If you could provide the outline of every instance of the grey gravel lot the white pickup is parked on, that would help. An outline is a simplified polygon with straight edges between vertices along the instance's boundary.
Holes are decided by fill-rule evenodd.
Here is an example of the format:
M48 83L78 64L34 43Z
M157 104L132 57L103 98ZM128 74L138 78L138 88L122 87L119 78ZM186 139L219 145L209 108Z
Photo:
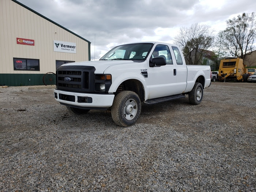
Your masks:
M0 191L256 191L256 83L142 106L127 128L30 87L0 88Z

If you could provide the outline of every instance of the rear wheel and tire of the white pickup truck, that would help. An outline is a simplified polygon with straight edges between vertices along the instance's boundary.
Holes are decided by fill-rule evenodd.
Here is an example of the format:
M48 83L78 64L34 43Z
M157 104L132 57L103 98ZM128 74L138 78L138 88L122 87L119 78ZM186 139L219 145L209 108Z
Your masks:
M193 89L188 93L189 103L192 105L199 105L203 99L203 86L196 82Z

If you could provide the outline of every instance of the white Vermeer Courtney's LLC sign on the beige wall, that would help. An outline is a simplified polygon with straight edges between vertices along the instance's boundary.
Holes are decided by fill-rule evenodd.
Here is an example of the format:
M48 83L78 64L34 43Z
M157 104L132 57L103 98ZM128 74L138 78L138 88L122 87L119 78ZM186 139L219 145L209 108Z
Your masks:
M53 50L56 52L76 53L76 43L53 40Z

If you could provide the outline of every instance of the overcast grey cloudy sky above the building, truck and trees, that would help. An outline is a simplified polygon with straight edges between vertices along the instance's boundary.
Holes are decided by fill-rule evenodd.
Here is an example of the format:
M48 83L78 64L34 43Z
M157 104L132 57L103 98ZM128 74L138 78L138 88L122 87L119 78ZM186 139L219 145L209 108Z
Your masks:
M18 1L90 41L91 60L124 43L172 43L180 27L192 23L209 25L217 33L227 19L256 12L255 0Z

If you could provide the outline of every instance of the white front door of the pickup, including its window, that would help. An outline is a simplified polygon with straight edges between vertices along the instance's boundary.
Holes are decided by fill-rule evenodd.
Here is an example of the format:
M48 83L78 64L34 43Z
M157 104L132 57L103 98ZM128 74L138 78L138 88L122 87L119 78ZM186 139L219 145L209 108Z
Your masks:
M155 57L163 57L166 60L166 65L163 66L148 66L147 88L149 89L149 98L165 97L169 95L180 94L180 88L177 85L177 68L176 62L173 63L173 57L167 45L159 44L155 46L153 53L150 56L149 63ZM185 89L184 89L185 90Z

